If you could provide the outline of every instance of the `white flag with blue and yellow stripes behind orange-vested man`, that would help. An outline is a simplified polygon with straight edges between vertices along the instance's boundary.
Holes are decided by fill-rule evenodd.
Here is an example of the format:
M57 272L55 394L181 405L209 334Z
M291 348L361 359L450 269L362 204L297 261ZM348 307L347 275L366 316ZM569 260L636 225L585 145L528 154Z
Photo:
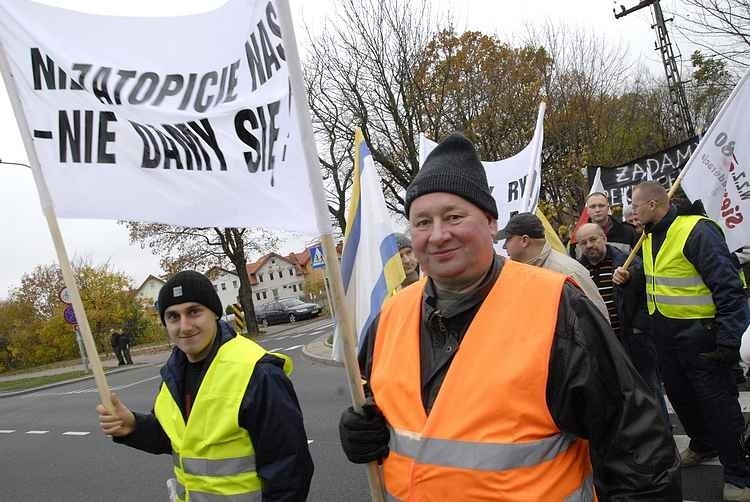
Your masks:
M406 275L380 175L359 128L354 134L354 184L346 221L341 275L360 346L383 302Z

